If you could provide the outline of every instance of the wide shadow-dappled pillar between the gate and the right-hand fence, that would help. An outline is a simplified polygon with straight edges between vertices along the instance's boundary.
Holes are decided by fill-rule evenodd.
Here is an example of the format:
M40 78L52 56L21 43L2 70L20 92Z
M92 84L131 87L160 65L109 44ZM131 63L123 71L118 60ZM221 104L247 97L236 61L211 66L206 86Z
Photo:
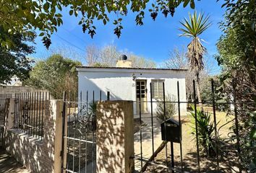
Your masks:
M132 172L133 102L98 102L96 115L96 172Z

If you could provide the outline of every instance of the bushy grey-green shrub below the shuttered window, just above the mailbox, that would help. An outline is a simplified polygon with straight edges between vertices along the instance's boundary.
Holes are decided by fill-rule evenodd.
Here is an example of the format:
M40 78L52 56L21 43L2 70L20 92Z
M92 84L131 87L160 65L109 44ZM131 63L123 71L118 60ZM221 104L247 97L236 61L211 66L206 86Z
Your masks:
M164 112L163 99L158 99L156 103L156 117L160 123L174 116L176 113L176 105L174 97L171 94L166 94L166 112Z

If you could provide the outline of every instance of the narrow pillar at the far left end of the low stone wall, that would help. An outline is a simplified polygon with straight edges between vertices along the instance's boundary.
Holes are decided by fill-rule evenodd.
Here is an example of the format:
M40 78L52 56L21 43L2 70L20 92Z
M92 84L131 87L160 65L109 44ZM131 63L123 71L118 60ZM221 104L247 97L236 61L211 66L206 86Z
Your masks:
M14 107L15 99L6 99L4 108L4 118L5 118L5 127L6 129L13 128L14 124Z

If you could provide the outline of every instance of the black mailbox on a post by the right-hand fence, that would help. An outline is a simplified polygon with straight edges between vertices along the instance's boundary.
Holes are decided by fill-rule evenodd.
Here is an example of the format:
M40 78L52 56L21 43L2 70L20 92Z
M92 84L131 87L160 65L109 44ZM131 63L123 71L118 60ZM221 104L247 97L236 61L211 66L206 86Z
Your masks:
M164 122L161 123L161 133L163 141L171 141L175 143L180 143L181 141L181 128L179 127L179 122L172 118L166 120L166 128L164 127Z

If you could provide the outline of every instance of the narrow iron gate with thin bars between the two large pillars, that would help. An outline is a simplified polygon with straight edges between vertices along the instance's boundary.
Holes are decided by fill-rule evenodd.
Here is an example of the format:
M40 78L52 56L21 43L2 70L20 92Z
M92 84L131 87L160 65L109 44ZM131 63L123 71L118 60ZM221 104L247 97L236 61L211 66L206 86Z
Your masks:
M90 102L64 92L62 172L95 172L95 105L94 92Z

